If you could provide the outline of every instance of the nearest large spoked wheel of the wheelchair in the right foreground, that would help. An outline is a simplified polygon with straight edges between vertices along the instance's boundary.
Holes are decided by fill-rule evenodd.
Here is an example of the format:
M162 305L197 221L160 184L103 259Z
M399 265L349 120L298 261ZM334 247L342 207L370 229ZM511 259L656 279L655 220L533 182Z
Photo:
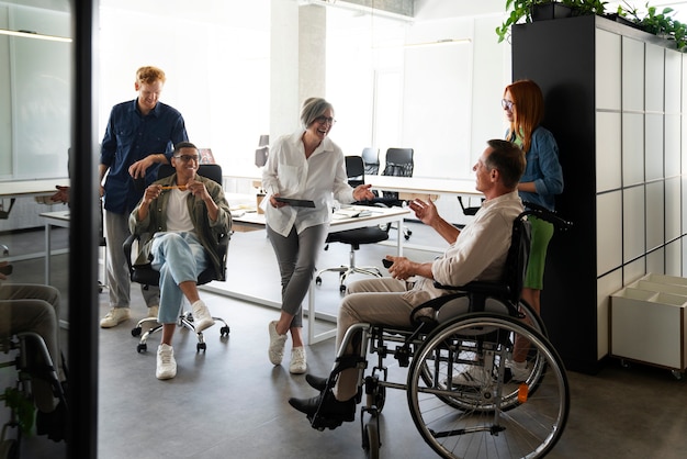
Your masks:
M506 379L516 334L539 356L522 383ZM454 382L471 367L483 378ZM427 337L408 371L407 399L417 429L441 457L538 458L563 433L570 389L560 357L541 333L517 318L472 313Z

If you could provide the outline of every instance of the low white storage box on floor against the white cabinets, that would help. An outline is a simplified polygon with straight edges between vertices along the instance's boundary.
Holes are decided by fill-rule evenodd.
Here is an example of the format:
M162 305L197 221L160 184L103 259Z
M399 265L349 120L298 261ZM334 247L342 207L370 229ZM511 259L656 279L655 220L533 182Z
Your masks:
M649 273L613 293L610 354L684 371L687 279Z

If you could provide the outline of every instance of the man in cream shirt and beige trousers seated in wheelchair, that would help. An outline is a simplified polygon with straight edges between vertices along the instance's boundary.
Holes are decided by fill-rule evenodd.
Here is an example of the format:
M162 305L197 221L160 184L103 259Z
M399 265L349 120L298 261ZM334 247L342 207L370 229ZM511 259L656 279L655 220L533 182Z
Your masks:
M341 301L337 322L336 349L339 349L347 329L354 324L370 323L385 326L410 327L410 314L416 306L438 296L455 293L439 289L443 286L464 286L471 281L498 280L504 272L510 247L513 223L523 211L517 184L525 170L525 155L507 141L492 139L473 167L476 190L485 201L473 221L462 231L439 216L431 202L415 200L410 209L423 223L431 226L449 244L444 254L431 262L416 262L405 257L387 256L393 261L391 277L367 279L348 287ZM432 311L428 309L428 314ZM345 355L354 355L349 345ZM356 395L360 368L344 369L333 390L327 390L328 378L306 374L311 387L320 390L312 399L290 399L289 403L312 418L328 421L334 427L351 422L356 415ZM457 378L470 380L469 372Z

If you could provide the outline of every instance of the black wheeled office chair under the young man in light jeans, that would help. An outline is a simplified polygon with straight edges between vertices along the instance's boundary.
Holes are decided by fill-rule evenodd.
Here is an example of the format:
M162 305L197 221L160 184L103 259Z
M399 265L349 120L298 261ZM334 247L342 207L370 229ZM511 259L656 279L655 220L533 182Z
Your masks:
M174 172L176 172L174 168L171 167L170 165L160 165L158 172L157 172L157 178L159 180L161 178L171 176ZM222 183L222 167L219 165L216 165L216 164L199 165L198 175L212 179L213 181L216 181L217 183ZM159 271L156 271L155 269L153 269L149 262L146 265L134 265L134 262L132 261L132 246L134 242L140 240L140 236L142 235L139 234L132 234L131 236L128 236L128 238L124 242L124 245L123 245L124 255L126 257L126 264L128 266L128 272L131 275L131 279L133 282L144 284L145 286L144 288L147 288L148 286L158 286L160 281ZM230 234L224 234L219 237L219 240L217 240L218 253L222 258L222 271L215 272L212 266L207 267L198 277L199 286L205 284L213 280L224 281L226 279L226 257L227 257L227 249L229 246L229 238L230 238ZM229 326L224 321L224 318L222 317L212 317L212 318L224 324L222 328L219 328L221 337L222 338L228 337ZM154 322L157 324L157 317L146 317L146 318L138 321L136 326L132 329L132 336L134 337L140 336L143 324L148 323L148 322ZM183 310L181 311L181 315L179 316L179 321L177 325L188 328L191 332L195 333L195 327L193 326L193 315L191 314L190 311L185 313L183 312ZM136 350L138 352L146 351L148 348L146 344L148 336L150 336L150 334L156 333L160 329L162 329L162 325L157 324L157 325L154 325L146 333L144 333L143 336L140 336L140 340L138 342L138 347ZM203 338L203 334L196 333L196 336L198 336L196 350L204 351L206 346L205 346L205 340Z

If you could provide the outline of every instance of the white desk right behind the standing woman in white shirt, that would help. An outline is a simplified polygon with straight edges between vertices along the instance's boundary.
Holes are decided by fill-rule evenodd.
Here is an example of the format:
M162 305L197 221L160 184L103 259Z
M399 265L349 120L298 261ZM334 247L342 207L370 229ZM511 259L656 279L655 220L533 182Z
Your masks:
M408 209L403 208L371 208L365 205L347 205L342 208L344 211L354 210L360 212L365 212L363 216L356 217L335 217L331 220L330 231L346 231L346 229L354 229L364 226L373 226L373 225L382 225L386 223L398 222L398 224L403 224L403 217L409 214ZM245 225L245 226L254 226L256 228L264 228L264 215L258 214L257 212L247 212L241 216L233 217L233 221L236 224ZM398 256L403 255L403 237L399 237L396 244L396 253ZM281 304L277 304L272 301L264 301L259 298L250 298L244 294L237 294L227 290L218 290L207 288L213 292L225 294L230 298L236 298L239 300L252 301L258 304L263 304L271 307L281 307ZM330 329L320 334L315 334L315 279L311 282L311 287L308 289L307 294L307 320L308 320L308 344L319 343L324 339L330 338L336 335L336 329ZM320 314L324 316L324 314ZM336 317L327 315L326 318L330 322L336 323Z

